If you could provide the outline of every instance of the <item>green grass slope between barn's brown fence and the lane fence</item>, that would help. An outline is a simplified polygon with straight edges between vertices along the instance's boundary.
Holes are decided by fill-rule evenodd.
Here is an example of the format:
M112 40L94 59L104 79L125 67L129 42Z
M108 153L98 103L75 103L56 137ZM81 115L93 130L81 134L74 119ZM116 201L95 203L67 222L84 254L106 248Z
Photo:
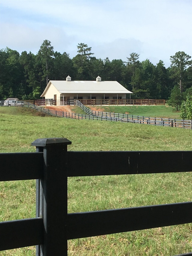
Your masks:
M165 104L165 106L91 106L90 108L104 112L180 119L180 113L176 112L176 110L168 104Z

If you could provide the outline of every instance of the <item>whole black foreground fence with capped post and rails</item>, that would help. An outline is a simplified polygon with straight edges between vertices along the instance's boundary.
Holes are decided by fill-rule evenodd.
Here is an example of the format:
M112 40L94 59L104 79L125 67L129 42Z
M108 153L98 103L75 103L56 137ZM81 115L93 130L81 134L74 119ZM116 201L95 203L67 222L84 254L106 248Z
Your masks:
M38 139L34 153L0 154L0 181L37 179L36 218L0 222L1 251L37 245L37 256L67 255L67 239L192 222L192 202L67 214L67 177L192 171L192 151L71 152L69 144Z

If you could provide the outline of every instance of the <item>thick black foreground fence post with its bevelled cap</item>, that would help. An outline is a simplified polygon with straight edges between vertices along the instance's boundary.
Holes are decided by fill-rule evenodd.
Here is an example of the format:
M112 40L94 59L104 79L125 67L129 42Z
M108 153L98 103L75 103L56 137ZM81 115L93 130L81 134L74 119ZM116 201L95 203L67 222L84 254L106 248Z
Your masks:
M43 202L37 191L37 214L44 219L44 256L67 256L67 145L65 138L37 139L32 142L36 150L43 151L44 170L41 185ZM37 182L37 188L39 187ZM43 207L41 205L43 204ZM39 206L40 205L40 206ZM41 209L43 211L41 212ZM37 247L38 248L38 247Z

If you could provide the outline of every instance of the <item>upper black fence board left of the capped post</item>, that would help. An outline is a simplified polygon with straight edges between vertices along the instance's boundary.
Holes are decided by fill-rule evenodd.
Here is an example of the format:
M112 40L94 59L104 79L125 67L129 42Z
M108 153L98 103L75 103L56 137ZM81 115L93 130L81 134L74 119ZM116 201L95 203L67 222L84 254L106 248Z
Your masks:
M41 179L43 163L43 153L1 153L0 181Z

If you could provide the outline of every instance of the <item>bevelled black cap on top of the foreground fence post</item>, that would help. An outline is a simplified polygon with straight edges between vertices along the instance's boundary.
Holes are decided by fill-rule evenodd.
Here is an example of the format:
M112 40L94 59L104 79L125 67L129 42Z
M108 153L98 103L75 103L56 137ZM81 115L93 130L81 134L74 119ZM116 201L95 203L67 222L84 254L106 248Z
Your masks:
M36 147L70 145L72 142L66 138L45 138L34 140L31 145Z

